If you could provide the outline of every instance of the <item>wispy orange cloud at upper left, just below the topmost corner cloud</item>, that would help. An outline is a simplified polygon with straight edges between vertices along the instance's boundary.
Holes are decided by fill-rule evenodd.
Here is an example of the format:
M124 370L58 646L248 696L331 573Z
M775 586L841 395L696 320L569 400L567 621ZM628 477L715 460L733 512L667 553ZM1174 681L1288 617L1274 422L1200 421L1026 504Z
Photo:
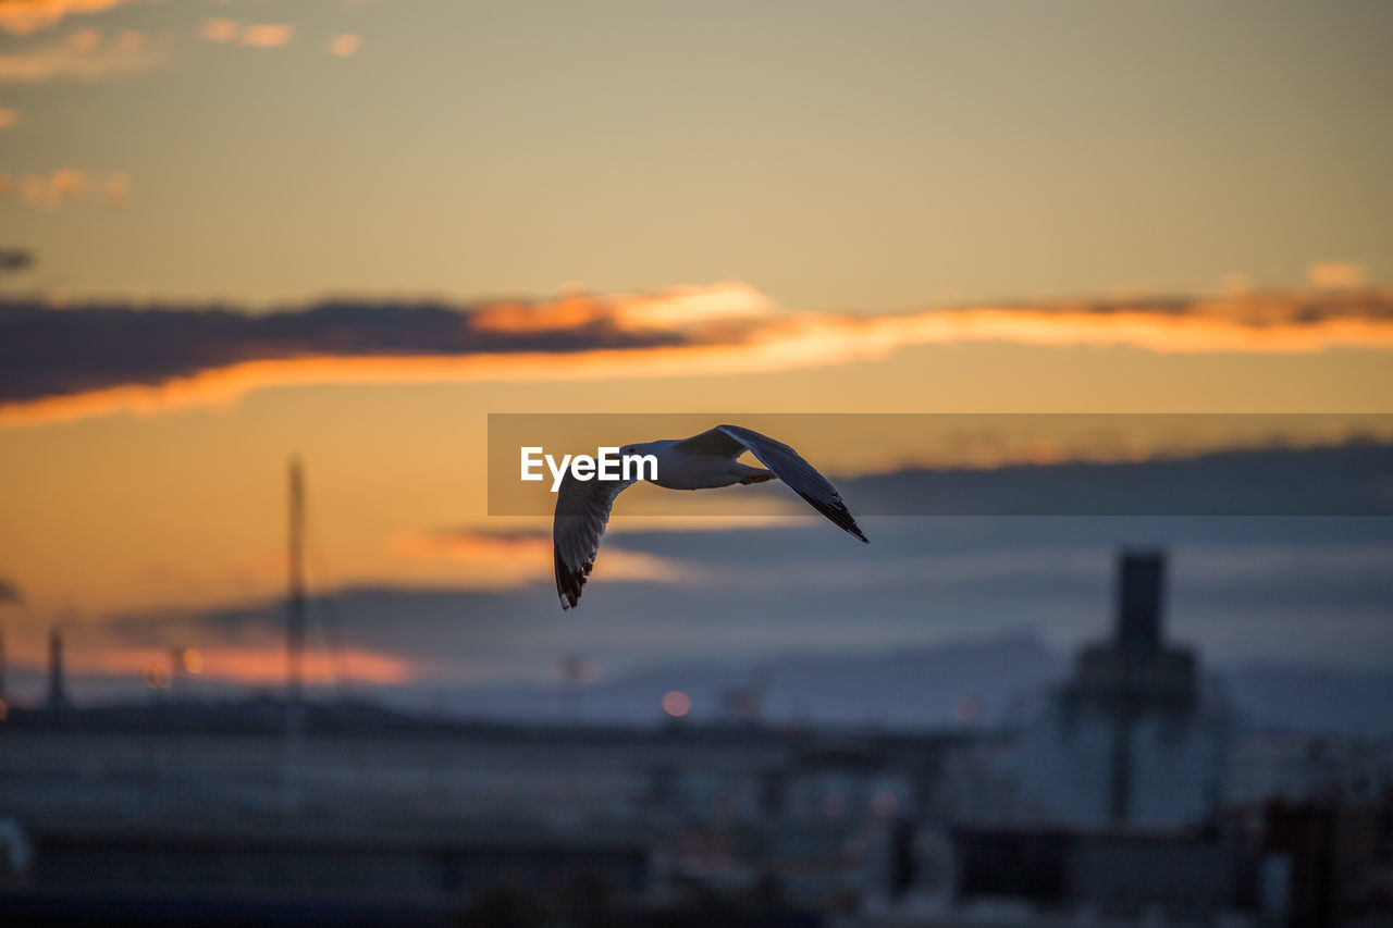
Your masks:
M106 81L143 74L164 63L164 45L125 29L103 36L79 29L35 49L0 54L0 84Z

